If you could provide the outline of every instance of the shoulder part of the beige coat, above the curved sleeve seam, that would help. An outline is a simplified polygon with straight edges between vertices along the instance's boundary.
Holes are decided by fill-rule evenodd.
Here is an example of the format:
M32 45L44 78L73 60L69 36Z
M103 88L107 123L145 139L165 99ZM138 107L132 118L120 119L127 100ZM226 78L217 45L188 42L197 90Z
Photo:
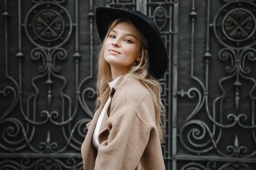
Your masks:
M125 78L116 89L111 102L112 113L121 109L132 109L147 126L154 126L154 102L150 91L142 82L134 78Z

